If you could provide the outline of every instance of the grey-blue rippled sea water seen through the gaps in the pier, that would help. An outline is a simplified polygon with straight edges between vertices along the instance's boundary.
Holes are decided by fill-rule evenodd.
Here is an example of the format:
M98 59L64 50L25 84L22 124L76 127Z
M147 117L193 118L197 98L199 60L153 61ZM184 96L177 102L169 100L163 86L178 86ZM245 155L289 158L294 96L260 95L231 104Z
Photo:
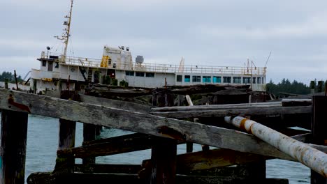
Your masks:
M25 178L33 172L52 171L54 169L59 135L58 124L57 118L29 115ZM75 146L82 144L82 127L82 123L77 123ZM115 137L129 133L131 132L104 128L101 132L101 137ZM177 147L177 153L185 153L185 148L185 145L179 145ZM195 145L194 150L200 151L201 146ZM140 164L142 160L150 158L150 153L150 150L145 150L98 157L96 158L96 162L107 164ZM82 161L77 159L76 162L80 163ZM290 184L310 183L310 169L298 162L268 160L266 174L267 178L288 178Z

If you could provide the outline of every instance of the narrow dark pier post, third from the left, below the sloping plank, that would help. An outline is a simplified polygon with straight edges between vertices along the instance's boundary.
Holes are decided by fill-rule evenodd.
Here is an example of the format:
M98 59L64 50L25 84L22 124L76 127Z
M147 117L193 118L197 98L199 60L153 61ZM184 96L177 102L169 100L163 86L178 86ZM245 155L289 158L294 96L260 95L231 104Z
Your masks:
M96 139L96 125L83 124L83 141L93 141ZM93 172L96 158L83 158L83 171Z

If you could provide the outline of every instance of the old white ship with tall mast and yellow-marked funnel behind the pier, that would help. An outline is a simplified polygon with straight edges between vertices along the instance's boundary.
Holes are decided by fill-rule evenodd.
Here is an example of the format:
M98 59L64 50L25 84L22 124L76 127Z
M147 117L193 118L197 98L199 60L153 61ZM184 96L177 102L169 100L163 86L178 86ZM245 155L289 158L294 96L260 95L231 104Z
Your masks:
M73 1L71 1L71 10ZM71 26L71 10L64 22L66 29L59 39L64 53L42 52L40 69L31 70L31 89L34 93L61 89L79 90L88 84L127 84L148 89L163 86L191 86L199 84L249 85L252 91L266 91L266 67L256 66L186 66L144 63L143 56L133 61L129 47L103 47L102 59L66 56ZM109 79L109 80L108 80Z

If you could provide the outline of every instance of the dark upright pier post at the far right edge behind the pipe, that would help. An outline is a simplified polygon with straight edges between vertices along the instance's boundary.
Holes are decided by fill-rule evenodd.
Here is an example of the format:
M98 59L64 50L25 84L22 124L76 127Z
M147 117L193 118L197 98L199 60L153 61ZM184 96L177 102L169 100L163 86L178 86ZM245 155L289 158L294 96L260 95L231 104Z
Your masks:
M312 138L313 144L320 144L327 146L327 97L313 96L313 117L312 117ZM311 170L312 184L327 184L327 178L321 176L317 172Z

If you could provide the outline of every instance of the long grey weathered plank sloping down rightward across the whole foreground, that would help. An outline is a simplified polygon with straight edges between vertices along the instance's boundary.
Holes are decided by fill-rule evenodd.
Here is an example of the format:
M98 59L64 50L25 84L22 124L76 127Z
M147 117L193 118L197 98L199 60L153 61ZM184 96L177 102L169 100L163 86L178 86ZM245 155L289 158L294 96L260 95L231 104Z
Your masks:
M277 148L237 130L3 89L0 89L0 108L24 112L24 110L8 104L9 95L13 96L15 102L29 107L32 114L291 159Z

